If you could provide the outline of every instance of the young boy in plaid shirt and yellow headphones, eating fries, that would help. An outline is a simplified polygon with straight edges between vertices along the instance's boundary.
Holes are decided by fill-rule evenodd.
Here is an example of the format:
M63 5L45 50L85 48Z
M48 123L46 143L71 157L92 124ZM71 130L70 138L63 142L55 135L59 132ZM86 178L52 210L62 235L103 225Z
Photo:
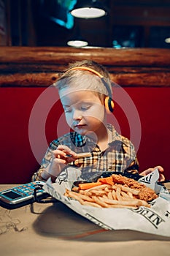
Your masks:
M137 173L139 163L134 145L107 124L107 112L114 109L109 72L95 61L76 61L55 86L72 132L50 143L32 180L47 181L51 177L55 182L68 165L79 168L86 179L88 173L102 171ZM90 155L79 156L86 152ZM157 168L163 181L163 168ZM154 169L140 174L147 175Z

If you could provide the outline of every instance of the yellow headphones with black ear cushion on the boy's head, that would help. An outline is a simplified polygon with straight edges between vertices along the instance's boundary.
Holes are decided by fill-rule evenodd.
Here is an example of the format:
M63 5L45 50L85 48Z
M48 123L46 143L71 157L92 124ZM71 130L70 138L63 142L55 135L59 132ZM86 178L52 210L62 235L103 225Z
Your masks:
M107 88L107 91L109 92L109 95L110 96L112 95L112 91L109 88L107 82L104 80L104 76L101 75L99 72L97 72L94 69L91 69L90 67L72 67L71 69L67 70L67 72L71 71L71 70L77 70L77 69L88 70L88 71L92 72L93 74L98 75L98 77L101 78L102 82L104 83L104 86ZM106 110L108 112L113 112L113 110L114 110L114 102L113 102L111 97L109 97L109 96L105 97L105 99L104 99L104 106L105 106L105 108L106 108Z

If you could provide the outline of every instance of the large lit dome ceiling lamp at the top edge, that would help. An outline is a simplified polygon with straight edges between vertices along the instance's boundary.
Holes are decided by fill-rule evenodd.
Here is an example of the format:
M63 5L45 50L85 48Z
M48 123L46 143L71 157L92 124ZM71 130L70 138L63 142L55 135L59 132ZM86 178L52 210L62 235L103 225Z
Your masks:
M107 14L103 5L96 0L80 1L75 5L74 9L70 12L76 18L99 18Z

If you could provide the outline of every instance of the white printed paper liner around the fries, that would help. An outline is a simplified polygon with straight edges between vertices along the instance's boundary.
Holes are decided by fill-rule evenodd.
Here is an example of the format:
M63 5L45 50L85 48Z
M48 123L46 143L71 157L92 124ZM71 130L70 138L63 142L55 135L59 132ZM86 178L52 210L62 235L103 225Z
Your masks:
M55 183L50 178L43 187L55 199L60 200L82 217L107 230L136 230L170 237L170 194L157 183L158 170L139 179L139 182L155 190L158 198L152 200L150 208L96 208L82 206L80 202L64 196L66 189L72 190L74 181L80 180L81 172L68 167Z

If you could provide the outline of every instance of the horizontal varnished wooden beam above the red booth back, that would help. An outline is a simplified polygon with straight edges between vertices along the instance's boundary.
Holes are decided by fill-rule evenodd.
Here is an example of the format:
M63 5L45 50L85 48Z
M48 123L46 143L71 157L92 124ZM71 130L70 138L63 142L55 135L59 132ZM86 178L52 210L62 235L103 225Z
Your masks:
M0 86L50 86L69 62L103 64L120 86L170 86L170 50L1 47Z

